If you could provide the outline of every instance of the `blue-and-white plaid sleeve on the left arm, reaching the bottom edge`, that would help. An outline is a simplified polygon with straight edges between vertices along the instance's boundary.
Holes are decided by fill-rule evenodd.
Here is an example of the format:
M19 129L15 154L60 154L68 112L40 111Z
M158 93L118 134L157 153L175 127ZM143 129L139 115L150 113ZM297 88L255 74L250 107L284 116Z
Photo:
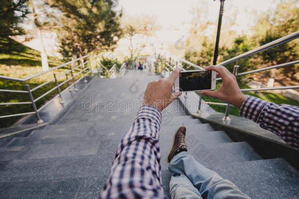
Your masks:
M165 198L158 142L161 120L155 107L140 108L118 146L99 199Z

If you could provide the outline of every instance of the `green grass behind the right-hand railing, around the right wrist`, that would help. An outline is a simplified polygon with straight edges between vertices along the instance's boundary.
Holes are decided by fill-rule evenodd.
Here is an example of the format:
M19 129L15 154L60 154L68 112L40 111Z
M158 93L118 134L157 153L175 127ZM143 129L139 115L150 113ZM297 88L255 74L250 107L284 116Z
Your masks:
M218 83L216 85L216 89L218 89L221 86L221 83ZM245 84L241 84L240 85L241 88L250 88L249 86L245 85ZM274 93L274 92L268 92L268 91L263 91L263 92L244 92L244 94L247 95L251 95L254 97L258 97L261 98L263 100L269 101L269 102L273 102L275 104L290 104L290 105L294 105L294 106L299 106L299 101L294 100L292 98L289 97L285 97L281 94L278 93ZM202 99L204 101L210 101L210 102L220 102L220 103L224 103L223 101L213 98L213 97L208 97L208 96L204 96L202 95ZM210 105L211 108L213 108L215 111L220 112L220 113L225 113L226 110L226 106L220 106L220 105ZM230 112L229 114L232 115L239 115L239 111L240 109L237 107L230 107Z

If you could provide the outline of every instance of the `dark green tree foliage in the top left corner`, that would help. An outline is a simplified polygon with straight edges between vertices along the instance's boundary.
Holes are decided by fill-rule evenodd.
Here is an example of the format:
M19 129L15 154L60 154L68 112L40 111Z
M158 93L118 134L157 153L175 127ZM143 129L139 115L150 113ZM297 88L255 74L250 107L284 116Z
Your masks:
M0 0L0 36L24 34L19 24L29 13L27 0Z

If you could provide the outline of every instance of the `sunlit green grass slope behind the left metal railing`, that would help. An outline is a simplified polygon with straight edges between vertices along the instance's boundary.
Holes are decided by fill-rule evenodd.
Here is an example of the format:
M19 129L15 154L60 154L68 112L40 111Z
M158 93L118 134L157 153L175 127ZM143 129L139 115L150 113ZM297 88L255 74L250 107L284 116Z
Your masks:
M16 77L16 78L25 78L33 74L42 72L41 67L41 57L40 52L33 50L24 46L21 43L18 43L10 38L1 38L0 37L0 75ZM66 60L65 60L66 61ZM48 57L49 67L57 66L65 61L60 60L56 57ZM30 88L34 88L37 85L40 85L53 78L53 73L58 76L59 74L69 70L68 67L61 67L33 78L27 83ZM75 70L74 74L78 72L79 69ZM80 78L82 74L78 75L75 80ZM68 76L70 78L70 76ZM61 83L66 80L66 77L63 76L58 79L58 82ZM39 97L46 91L50 90L55 86L55 82L52 81L47 85L38 88L32 92L34 98ZM67 83L60 87L60 90L63 90L67 87ZM12 90L26 90L25 83L0 80L0 89L12 89ZM41 98L36 102L37 108L41 107L47 100L50 100L57 94L57 90L50 92L45 97ZM0 92L0 102L28 102L29 97L27 93L13 93L13 92ZM19 114L25 112L32 112L31 104L28 105L0 105L0 115L7 114ZM0 128L9 127L14 124L22 116L8 117L0 119Z

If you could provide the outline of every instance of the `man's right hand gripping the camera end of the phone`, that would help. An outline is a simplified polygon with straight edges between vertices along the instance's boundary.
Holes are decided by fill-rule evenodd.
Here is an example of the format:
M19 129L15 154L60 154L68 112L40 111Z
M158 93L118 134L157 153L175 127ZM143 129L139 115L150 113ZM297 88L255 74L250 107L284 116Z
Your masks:
M236 77L222 65L208 66L205 67L205 69L217 71L219 76L222 78L223 84L216 91L199 91L199 94L215 97L235 107L241 108L248 95L244 95L242 93Z

